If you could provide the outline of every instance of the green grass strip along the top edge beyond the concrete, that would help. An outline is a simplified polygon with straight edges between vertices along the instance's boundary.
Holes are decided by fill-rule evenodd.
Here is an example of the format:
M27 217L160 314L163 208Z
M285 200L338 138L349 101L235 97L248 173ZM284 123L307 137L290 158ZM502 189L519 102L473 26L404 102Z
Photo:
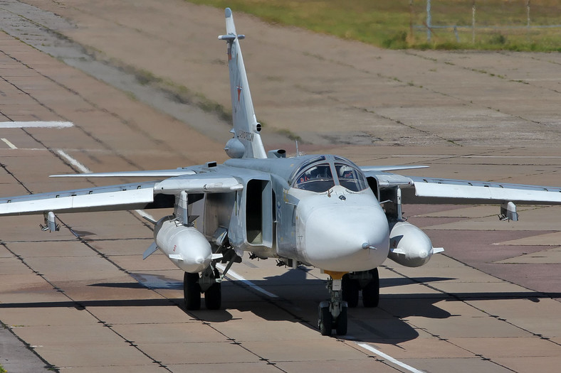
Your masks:
M430 42L426 28L411 27L426 23L426 0L412 0L412 6L409 0L189 1L382 48L561 51L561 28L509 28L527 25L528 0L476 0L475 40L472 0L431 0L431 25L458 28L457 34L453 28L435 28ZM560 1L531 0L530 24L560 25Z

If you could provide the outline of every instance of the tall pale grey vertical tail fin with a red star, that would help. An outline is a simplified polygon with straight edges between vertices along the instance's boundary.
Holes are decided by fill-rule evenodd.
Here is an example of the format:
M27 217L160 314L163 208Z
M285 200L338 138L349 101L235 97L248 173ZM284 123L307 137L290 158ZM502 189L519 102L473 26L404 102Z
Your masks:
M226 35L218 37L228 45L228 67L230 70L230 92L232 117L234 119L234 139L226 144L226 153L232 158L267 158L261 142L261 124L257 122L251 93L243 65L239 40L243 35L236 33L232 11L226 8ZM243 145L243 154L241 153Z

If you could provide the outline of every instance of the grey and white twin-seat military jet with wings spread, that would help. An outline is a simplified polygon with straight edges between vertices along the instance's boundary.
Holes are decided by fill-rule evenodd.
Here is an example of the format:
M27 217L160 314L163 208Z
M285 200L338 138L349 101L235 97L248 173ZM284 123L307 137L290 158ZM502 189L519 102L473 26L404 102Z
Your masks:
M234 18L226 9L226 41L234 120L224 164L174 170L58 176L140 176L155 181L1 198L0 215L43 214L56 230L56 213L173 208L153 222L154 243L184 273L188 310L221 308L221 281L243 252L277 258L295 268L315 266L330 278L320 303L323 335L347 333L347 308L359 292L365 307L379 301L377 267L389 258L422 266L442 249L402 220L402 200L414 203L496 203L504 219L518 220L516 205L561 205L561 188L407 177L388 171L422 166L358 167L335 155L266 152L256 120ZM226 264L220 273L217 264Z

